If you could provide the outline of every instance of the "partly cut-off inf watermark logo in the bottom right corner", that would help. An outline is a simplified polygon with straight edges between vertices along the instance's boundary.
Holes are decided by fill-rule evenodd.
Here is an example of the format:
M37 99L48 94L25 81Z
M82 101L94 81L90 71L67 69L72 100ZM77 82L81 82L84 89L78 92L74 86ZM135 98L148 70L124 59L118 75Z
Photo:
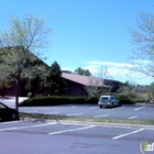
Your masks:
M145 154L146 152L154 152L154 142L143 141L140 144L140 150L143 154Z

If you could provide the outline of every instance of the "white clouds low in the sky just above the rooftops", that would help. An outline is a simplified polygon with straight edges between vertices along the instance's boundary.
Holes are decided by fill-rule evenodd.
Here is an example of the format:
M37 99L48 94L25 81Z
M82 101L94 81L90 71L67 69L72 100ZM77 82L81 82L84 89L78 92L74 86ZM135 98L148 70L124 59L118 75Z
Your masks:
M109 75L107 77L108 79L114 79L123 82L131 80L141 85L148 85L152 82L150 77L142 75L141 73L131 72L130 69L135 66L128 63L88 62L85 67L81 66L84 69L89 69L90 73L95 76L99 76L100 70L106 67ZM62 70L74 72L73 69L66 67L63 67Z

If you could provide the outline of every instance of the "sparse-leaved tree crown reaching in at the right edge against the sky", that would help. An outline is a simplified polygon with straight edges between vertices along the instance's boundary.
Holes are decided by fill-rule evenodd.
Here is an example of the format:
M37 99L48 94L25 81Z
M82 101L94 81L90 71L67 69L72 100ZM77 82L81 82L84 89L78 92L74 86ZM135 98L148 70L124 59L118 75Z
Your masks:
M129 62L132 70L154 77L154 14L142 12L136 18L136 28L131 29L134 48Z

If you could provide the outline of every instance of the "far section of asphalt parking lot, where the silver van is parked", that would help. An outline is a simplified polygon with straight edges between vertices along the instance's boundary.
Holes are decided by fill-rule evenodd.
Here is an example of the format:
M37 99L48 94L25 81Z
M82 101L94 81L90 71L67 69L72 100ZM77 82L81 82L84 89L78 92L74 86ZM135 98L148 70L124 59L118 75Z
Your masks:
M98 106L55 106L55 107L22 107L21 112L62 114L90 118L118 118L118 119L154 119L153 107L122 106L118 108L99 109Z

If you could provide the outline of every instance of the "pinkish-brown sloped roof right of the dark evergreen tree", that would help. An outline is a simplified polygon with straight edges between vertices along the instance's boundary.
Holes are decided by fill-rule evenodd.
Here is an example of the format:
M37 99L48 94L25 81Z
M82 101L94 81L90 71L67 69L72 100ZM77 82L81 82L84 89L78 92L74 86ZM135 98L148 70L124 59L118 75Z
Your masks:
M72 80L84 86L109 87L103 84L103 79L100 79L97 77L89 77L89 76L67 74L67 73L62 73L62 77L67 80Z

